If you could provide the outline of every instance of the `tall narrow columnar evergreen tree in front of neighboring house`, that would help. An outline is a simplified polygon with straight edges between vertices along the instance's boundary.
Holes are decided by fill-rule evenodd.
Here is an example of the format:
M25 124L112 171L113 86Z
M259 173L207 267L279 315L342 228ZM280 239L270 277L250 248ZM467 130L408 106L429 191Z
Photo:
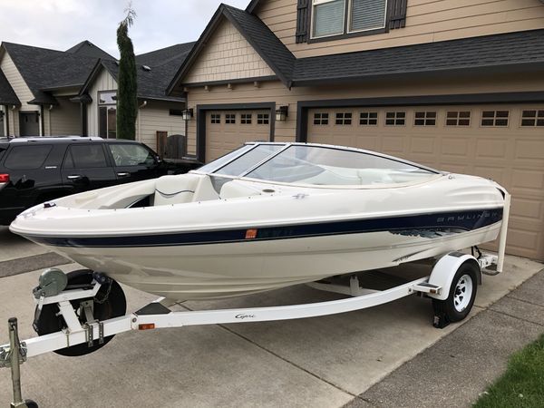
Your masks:
M136 12L129 4L125 10L127 16L117 28L117 46L121 59L119 60L117 88L117 138L136 139L136 117L138 115L137 73L134 58L134 47L129 37L129 27L134 22Z

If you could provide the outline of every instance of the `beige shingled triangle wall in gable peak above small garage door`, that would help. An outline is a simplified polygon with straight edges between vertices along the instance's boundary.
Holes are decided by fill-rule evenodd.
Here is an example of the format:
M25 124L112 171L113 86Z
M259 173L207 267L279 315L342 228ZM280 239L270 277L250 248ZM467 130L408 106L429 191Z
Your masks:
M226 81L275 73L228 20L213 34L184 83Z

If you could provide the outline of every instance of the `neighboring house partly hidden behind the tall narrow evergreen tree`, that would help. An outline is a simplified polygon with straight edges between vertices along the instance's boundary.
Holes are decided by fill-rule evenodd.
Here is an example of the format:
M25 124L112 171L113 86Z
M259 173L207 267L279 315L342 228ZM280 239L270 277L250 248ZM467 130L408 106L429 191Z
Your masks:
M158 147L158 132L164 137L186 133L186 123L181 117L185 109L185 98L167 96L166 88L193 44L172 45L136 56L139 103L136 140L146 143L152 149ZM88 103L85 134L102 138L116 137L118 72L116 61L101 60L83 85L79 100Z

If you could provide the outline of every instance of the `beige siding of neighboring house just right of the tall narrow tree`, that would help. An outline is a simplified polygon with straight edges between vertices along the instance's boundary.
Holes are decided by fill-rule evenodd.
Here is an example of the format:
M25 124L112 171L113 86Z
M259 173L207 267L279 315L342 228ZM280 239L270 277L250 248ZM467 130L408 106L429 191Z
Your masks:
M138 111L136 134L138 140L157 150L157 131L166 131L168 135L185 134L185 121L181 116L170 115L170 109L183 110L184 103L148 102Z

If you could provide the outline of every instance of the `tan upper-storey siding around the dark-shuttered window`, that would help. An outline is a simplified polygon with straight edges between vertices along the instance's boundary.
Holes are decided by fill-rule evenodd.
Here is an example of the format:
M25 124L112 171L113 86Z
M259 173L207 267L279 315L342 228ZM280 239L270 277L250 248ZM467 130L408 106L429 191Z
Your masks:
M408 0L406 26L389 33L296 44L296 0L267 0L257 15L297 58L544 28L540 0Z

